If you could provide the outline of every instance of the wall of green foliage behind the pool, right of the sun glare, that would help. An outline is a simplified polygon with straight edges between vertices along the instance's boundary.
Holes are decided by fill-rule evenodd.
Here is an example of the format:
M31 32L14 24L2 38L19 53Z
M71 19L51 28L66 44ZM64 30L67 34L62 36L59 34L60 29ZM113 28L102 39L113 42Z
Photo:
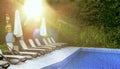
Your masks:
M79 46L119 48L119 0L69 0L60 5L63 7L52 5L61 12L56 22L56 26L60 26L57 28L60 41Z

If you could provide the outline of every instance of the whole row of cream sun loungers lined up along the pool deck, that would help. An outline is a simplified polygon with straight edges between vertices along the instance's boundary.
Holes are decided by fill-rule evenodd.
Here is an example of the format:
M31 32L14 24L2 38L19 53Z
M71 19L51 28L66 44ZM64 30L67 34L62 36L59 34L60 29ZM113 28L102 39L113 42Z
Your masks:
M6 43L11 55L5 55L0 50L0 69L7 69L10 64L18 64L48 54L56 49L65 47L66 43L56 43L54 39L43 38L44 45L40 43L38 38L28 39L29 45L23 39L19 40L20 45L15 46L13 43ZM16 47L16 48L15 48ZM18 47L21 47L19 50Z

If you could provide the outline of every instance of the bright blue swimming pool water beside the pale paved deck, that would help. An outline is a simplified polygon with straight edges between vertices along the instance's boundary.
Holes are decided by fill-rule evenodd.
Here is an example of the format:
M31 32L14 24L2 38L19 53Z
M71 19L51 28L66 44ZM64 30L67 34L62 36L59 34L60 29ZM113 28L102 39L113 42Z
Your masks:
M83 48L43 69L120 69L120 51Z

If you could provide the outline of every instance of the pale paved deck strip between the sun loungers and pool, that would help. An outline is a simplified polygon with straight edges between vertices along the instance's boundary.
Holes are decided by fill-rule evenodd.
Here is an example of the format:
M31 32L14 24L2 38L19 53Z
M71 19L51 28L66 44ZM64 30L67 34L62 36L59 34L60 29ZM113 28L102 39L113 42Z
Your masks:
M24 63L11 65L8 69L41 69L43 67L64 60L65 58L76 52L78 49L80 49L80 47L65 47L60 50L55 50L49 54L34 58L32 60L27 60Z

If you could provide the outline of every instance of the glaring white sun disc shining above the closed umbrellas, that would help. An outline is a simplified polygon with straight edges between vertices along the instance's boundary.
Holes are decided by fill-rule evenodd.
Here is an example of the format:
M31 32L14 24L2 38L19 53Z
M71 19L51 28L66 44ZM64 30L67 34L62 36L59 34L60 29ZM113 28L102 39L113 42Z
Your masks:
M30 17L35 18L42 13L42 0L26 0L24 7L24 13Z

